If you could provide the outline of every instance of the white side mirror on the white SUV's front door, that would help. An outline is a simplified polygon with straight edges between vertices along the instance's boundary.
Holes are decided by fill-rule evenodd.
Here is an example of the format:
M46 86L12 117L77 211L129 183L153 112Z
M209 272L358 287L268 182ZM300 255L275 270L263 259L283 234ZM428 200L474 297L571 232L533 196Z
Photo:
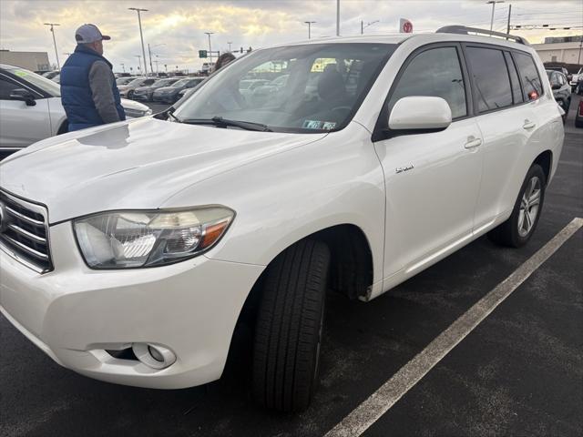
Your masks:
M403 97L389 115L391 130L418 130L438 132L452 123L452 110L441 97Z

